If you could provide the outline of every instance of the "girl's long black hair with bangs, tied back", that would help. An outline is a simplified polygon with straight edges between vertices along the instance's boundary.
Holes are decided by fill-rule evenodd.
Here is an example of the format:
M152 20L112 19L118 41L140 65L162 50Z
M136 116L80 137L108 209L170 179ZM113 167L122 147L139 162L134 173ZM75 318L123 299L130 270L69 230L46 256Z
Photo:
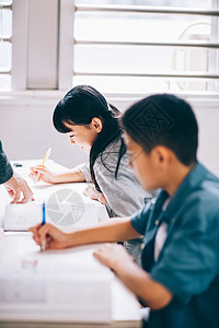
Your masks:
M101 155L101 161L106 167L102 159L102 153L111 142L120 139L120 149L115 171L115 178L117 178L120 160L126 152L126 147L122 138L122 129L118 125L119 116L120 112L113 105L108 105L105 97L90 85L78 85L71 89L54 110L54 126L61 133L70 132L66 124L85 126L90 125L94 117L99 117L102 120L102 131L97 134L90 151L91 178L99 191L101 191L101 188L95 179L93 169L97 156ZM107 169L110 171L110 168Z

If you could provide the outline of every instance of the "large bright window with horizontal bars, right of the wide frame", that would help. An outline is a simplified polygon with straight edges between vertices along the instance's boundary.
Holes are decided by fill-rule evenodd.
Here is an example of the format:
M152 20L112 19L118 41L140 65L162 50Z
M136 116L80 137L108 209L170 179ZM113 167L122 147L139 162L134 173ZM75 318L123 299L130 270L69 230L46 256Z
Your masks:
M76 0L73 36L73 85L219 91L218 0Z

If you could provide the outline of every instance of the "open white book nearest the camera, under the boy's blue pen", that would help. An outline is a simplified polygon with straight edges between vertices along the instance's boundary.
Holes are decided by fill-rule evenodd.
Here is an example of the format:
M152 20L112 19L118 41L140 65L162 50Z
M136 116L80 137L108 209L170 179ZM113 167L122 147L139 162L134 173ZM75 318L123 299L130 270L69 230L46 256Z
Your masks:
M39 251L31 236L5 237L0 243L0 320L112 320L114 274L95 260L94 247Z

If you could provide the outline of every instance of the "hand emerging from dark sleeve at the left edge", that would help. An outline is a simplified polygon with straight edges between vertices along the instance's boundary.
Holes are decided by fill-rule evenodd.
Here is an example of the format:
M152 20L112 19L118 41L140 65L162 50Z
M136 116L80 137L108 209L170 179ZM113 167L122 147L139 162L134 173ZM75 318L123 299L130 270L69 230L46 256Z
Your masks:
M13 176L3 184L9 196L13 198L11 203L24 203L30 200L34 200L34 194L26 180L22 178L19 174L14 173ZM21 195L23 194L23 199L20 200Z

